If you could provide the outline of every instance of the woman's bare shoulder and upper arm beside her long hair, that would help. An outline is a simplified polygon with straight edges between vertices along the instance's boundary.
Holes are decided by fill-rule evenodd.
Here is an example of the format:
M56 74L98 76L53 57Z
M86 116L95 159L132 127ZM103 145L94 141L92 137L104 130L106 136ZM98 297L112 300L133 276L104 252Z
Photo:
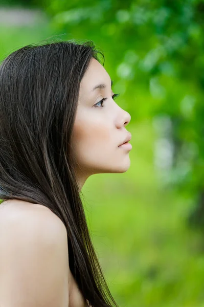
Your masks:
M67 307L66 228L49 208L28 204L0 205L0 305Z

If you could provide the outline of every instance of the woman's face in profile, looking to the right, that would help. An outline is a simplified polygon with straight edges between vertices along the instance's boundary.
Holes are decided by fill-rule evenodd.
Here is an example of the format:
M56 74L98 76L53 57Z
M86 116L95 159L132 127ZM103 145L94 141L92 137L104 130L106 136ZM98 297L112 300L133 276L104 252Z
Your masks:
M93 90L98 84L105 87ZM92 58L80 83L72 136L80 182L96 173L122 173L130 166L130 149L118 146L130 135L125 126L131 117L112 98L114 94L110 76Z

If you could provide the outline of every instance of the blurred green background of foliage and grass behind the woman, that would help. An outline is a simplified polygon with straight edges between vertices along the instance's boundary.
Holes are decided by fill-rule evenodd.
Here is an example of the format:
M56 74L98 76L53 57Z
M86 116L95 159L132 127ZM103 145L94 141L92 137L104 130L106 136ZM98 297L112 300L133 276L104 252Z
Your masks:
M204 2L0 3L0 57L92 39L131 115L130 168L82 192L94 245L120 307L204 307Z

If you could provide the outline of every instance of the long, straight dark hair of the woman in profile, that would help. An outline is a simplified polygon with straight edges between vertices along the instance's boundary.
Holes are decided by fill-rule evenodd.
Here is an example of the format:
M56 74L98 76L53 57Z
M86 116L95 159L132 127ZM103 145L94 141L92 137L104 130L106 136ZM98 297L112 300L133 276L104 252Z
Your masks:
M93 307L118 306L87 227L71 150L79 87L94 42L31 44L0 65L0 199L41 204L64 223L69 266ZM104 62L103 64L104 65Z

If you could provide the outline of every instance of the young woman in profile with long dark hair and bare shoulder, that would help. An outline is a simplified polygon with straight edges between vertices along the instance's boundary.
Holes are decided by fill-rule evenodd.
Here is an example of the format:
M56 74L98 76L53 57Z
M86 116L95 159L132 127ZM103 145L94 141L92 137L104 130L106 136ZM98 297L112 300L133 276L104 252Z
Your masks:
M80 199L89 176L130 166L130 115L98 54L60 41L1 63L1 307L118 306Z

